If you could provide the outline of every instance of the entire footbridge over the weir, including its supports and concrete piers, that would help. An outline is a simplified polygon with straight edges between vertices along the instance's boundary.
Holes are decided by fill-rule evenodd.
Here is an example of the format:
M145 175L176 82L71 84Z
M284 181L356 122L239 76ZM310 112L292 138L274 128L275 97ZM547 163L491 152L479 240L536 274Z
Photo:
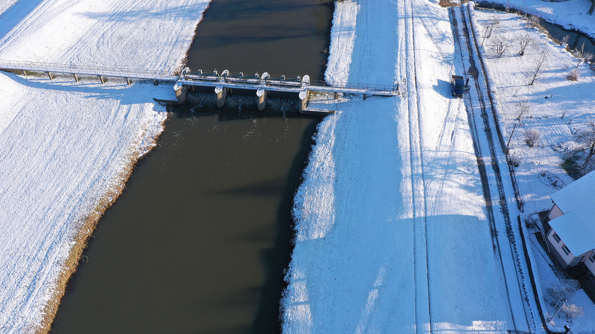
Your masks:
M393 81L392 86L379 84L360 83L332 83L310 80L308 75L303 77L291 77L286 75L271 75L267 72L259 73L232 73L230 71L203 71L184 68L179 75L172 75L166 71L133 70L130 68L109 68L77 66L65 64L48 64L42 62L21 62L0 60L0 69L26 71L34 73L46 73L50 80L54 79L52 74L71 74L74 80L79 81L79 75L96 75L101 83L105 77L125 78L128 84L131 79L171 81L176 92L176 104L184 103L190 91L214 92L217 97L218 108L225 104L227 94L256 95L258 109L262 110L267 103L269 94L289 94L299 99L299 111L302 114L325 114L328 111L308 109L309 92L329 93L352 93L367 94L372 96L396 96L399 95L399 84Z

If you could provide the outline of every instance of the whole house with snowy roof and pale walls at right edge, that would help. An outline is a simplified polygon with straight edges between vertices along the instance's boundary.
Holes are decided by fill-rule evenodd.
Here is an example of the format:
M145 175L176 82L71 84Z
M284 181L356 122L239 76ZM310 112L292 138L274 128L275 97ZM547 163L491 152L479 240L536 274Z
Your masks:
M595 171L553 193L546 222L550 253L573 277L595 285Z

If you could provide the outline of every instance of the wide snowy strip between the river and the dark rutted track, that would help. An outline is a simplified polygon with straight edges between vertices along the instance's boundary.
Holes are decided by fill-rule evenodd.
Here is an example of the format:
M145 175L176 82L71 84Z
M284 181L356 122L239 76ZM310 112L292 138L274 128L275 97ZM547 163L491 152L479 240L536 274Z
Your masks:
M405 79L407 97L330 102L295 198L284 333L513 329L450 29L437 1L337 2L327 81Z

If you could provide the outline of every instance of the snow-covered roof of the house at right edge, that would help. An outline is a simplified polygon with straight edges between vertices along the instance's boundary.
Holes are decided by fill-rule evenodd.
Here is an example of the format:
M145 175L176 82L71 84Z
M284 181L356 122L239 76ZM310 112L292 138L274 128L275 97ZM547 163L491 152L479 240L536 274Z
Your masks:
M595 249L595 171L550 196L563 215L550 220L566 247L579 256Z

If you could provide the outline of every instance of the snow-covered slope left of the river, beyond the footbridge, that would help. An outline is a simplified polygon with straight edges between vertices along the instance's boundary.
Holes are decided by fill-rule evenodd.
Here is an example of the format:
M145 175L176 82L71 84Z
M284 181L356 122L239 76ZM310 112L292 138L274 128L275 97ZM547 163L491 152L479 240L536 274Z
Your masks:
M2 14L0 59L175 70L209 0L20 0Z

